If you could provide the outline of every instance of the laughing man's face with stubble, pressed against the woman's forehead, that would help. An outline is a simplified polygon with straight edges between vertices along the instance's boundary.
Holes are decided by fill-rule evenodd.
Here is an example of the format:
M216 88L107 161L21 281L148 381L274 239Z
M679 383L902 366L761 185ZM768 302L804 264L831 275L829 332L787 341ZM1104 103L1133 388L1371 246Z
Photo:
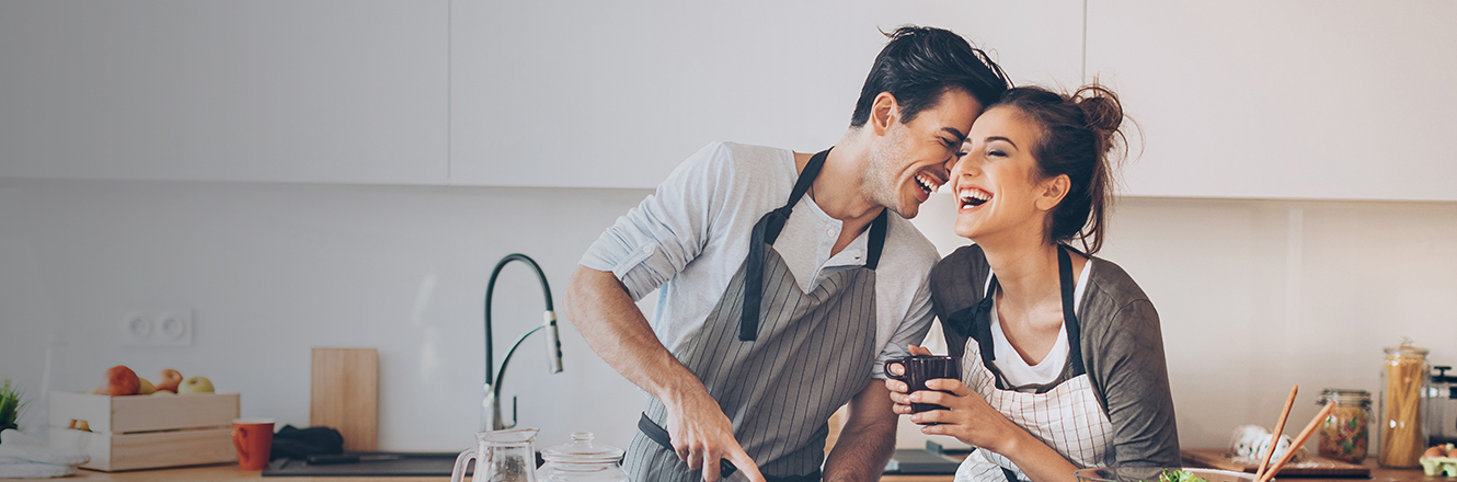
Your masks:
M871 150L865 198L903 218L915 217L921 202L951 178L962 141L981 112L976 98L949 90L911 122L900 122L898 115Z

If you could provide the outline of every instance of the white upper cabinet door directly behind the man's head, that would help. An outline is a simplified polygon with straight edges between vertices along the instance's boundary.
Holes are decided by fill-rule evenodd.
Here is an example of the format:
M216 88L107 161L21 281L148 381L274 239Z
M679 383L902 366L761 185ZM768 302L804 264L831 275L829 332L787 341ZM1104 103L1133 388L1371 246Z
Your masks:
M825 149L902 23L956 31L1013 79L1081 76L1075 0L456 0L450 181L651 188L710 141Z

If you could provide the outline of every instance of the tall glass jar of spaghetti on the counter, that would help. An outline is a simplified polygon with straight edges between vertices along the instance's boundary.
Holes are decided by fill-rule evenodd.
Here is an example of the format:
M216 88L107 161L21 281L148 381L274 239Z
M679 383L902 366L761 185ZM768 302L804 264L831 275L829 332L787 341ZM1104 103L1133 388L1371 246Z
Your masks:
M1381 451L1377 462L1383 467L1412 469L1426 450L1422 432L1422 412L1426 390L1426 348L1412 347L1403 338L1400 347L1386 348L1381 370Z

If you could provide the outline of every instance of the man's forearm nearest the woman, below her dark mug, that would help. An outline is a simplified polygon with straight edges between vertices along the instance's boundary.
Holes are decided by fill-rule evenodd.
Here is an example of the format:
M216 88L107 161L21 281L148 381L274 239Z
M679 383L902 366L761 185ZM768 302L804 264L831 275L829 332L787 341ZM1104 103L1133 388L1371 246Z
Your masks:
M825 460L825 482L880 479L896 449L896 414L890 406L890 390L884 380L870 380L849 400L845 428Z

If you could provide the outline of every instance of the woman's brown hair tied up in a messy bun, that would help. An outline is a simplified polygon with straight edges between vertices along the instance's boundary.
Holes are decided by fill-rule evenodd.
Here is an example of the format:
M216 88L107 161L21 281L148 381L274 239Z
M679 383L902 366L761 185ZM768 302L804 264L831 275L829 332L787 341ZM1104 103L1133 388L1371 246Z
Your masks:
M1113 201L1112 165L1128 150L1128 138L1119 131L1123 106L1118 95L1096 82L1072 95L1034 86L1013 87L994 106L1016 108L1037 124L1032 156L1042 179L1067 175L1071 181L1062 202L1052 208L1049 240L1077 239L1083 252L1099 252ZM1112 154L1119 156L1113 159Z

